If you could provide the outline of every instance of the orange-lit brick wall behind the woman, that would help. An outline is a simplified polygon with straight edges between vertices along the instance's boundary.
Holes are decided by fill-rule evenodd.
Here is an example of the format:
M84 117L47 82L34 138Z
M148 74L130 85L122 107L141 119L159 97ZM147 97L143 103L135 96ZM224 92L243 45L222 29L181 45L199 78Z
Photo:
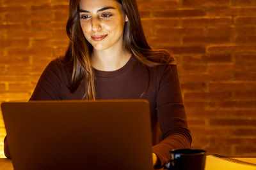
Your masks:
M193 136L208 153L256 155L256 1L138 0L148 43L173 52ZM0 0L0 102L28 101L68 45L68 0ZM0 154L4 124L0 116Z

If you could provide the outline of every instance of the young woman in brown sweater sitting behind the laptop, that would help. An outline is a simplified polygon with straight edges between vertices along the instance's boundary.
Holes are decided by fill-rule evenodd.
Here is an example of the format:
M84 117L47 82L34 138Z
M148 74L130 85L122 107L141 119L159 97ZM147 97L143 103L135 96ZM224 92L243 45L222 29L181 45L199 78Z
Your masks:
M30 100L147 99L154 166L190 147L175 60L148 46L136 0L70 0L67 34L65 57L46 67ZM7 140L4 149L10 157Z

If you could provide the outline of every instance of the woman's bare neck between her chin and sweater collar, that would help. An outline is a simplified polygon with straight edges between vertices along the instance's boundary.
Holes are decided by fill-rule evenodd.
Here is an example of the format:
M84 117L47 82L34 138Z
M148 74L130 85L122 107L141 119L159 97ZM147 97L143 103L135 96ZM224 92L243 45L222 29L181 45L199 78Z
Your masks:
M92 66L100 71L115 71L123 67L131 57L131 53L124 48L115 50L93 50Z

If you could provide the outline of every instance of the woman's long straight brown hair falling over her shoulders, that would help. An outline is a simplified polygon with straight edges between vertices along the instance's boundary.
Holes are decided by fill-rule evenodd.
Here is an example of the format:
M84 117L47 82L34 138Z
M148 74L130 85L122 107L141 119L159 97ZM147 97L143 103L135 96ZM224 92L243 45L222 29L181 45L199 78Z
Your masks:
M70 43L65 59L72 64L70 92L76 91L82 81L85 81L86 92L84 99L95 99L94 73L91 65L93 46L84 37L79 18L79 1L70 0L69 17L66 31ZM140 62L148 67L159 64L175 64L170 53L165 50L152 50L147 43L141 25L140 14L136 0L116 0L122 4L122 9L129 21L124 25L123 44ZM149 77L149 76L148 76ZM149 80L148 80L149 85ZM148 87L146 88L147 91ZM144 94L145 92L143 92ZM143 95L141 94L141 96Z

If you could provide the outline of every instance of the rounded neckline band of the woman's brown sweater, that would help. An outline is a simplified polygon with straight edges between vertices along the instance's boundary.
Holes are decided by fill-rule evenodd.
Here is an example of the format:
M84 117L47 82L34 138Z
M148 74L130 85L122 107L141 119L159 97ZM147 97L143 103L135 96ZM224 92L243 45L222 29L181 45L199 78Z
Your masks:
M125 63L125 65L120 69L116 69L115 71L100 71L95 68L93 68L93 71L96 76L101 76L101 77L117 76L118 74L124 73L130 67L130 65L132 64L132 61L134 60L133 58L134 58L133 55L131 55L130 59Z

